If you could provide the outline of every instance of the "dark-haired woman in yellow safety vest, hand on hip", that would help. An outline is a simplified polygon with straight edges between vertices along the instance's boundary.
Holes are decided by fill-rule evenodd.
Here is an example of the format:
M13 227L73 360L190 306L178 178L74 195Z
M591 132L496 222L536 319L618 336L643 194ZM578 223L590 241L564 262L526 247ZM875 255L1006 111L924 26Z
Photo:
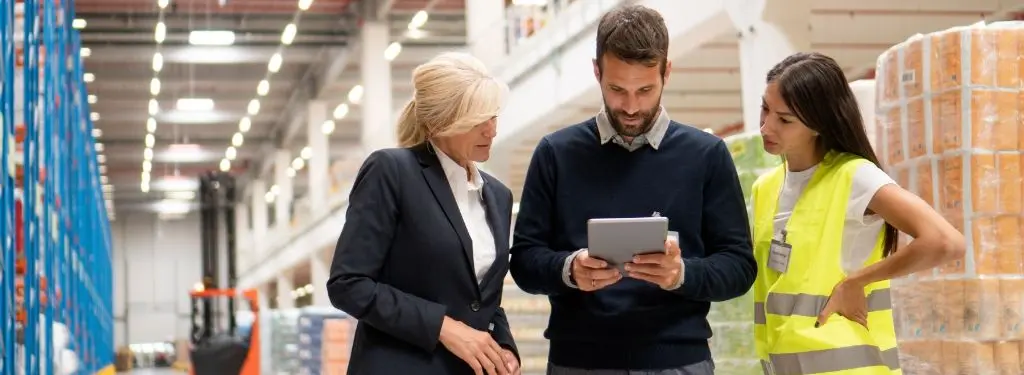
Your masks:
M761 134L784 163L753 192L765 373L900 374L889 280L962 258L964 236L880 168L833 58L794 54L767 83Z

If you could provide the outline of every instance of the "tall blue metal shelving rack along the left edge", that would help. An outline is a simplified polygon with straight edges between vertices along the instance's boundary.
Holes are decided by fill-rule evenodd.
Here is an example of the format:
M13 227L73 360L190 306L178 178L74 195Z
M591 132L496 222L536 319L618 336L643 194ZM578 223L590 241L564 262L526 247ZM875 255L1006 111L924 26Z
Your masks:
M20 2L0 0L0 374L55 374L53 359L66 348L79 359L76 373L105 372L114 363L113 253L80 38L71 27L74 1L24 1L18 35ZM24 49L20 68L16 40ZM18 107L15 96L22 96ZM24 165L17 167L14 132L20 124L26 137ZM18 196L20 227L14 215ZM15 275L22 259L25 276ZM15 322L19 315L25 319ZM53 323L68 327L67 347L53 347Z

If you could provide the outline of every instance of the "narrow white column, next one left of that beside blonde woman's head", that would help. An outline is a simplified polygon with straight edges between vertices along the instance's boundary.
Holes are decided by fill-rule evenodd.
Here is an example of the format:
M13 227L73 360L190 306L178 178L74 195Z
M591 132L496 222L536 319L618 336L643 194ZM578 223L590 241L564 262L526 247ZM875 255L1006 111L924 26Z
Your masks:
M311 218L321 217L327 211L327 192L331 181L328 178L330 169L330 150L328 148L328 135L324 134L322 125L327 121L327 103L322 100L313 100L308 105L306 111L306 137L309 142L309 150L312 156L306 163L309 177L307 195L309 199L309 210Z

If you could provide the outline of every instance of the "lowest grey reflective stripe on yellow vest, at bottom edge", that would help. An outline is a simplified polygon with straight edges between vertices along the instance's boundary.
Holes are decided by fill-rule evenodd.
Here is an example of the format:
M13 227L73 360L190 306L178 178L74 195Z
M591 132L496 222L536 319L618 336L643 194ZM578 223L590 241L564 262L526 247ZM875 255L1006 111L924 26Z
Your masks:
M899 370L899 351L895 347L879 350L877 346L857 345L770 357L771 362L761 361L765 374L807 375L873 366Z

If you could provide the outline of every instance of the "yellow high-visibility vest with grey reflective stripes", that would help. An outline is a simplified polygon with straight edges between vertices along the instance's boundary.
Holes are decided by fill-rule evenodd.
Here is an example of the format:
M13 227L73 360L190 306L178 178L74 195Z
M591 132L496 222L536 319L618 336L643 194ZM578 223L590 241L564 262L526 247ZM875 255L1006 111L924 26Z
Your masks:
M867 328L834 315L814 327L833 288L846 278L842 265L843 227L853 175L863 158L828 153L814 171L785 225L792 251L785 273L768 266L773 228L785 165L758 178L753 189L754 335L758 357L770 375L902 374L893 327L889 281L865 288ZM871 264L882 260L879 235Z

